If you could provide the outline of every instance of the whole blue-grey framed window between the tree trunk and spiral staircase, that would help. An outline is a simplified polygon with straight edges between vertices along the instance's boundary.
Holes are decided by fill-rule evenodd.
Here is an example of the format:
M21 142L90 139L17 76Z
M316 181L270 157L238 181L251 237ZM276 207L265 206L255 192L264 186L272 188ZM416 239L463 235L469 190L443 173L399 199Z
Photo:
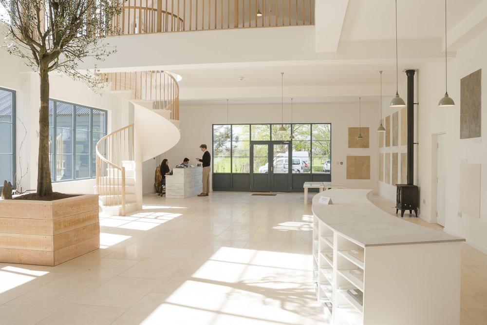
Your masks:
M107 135L105 110L51 99L49 155L51 179L66 182L96 176L98 140Z

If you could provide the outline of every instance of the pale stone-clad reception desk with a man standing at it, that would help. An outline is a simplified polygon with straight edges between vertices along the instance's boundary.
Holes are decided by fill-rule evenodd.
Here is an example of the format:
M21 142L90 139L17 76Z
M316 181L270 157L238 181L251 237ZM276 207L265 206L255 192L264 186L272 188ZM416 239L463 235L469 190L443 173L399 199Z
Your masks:
M166 197L183 199L203 191L203 167L174 168L166 176Z

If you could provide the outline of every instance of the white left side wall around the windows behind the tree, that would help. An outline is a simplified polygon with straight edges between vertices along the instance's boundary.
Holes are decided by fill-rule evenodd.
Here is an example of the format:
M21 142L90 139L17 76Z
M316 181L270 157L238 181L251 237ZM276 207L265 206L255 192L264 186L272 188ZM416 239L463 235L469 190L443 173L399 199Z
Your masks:
M16 91L17 114L17 173L20 164L23 172L28 173L22 179L23 190L37 187L37 153L39 130L39 80L33 72L25 72L23 62L6 51L0 51L0 87ZM84 83L74 81L66 76L50 75L50 96L54 99L73 102L108 111L108 132L133 123L133 106L117 96L106 94L101 96L89 89ZM24 138L21 120L27 130ZM53 183L54 191L73 193L93 193L94 180L82 180L64 183Z

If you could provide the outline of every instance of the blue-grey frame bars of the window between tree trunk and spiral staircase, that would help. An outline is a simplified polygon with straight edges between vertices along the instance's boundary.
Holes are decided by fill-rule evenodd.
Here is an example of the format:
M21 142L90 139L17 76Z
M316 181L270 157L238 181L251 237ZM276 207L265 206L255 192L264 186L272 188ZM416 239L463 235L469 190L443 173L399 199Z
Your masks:
M94 148L93 148L93 133L99 133L99 134L103 134L103 136L107 135L108 134L108 111L107 110L103 110L103 109L99 109L99 108L94 108L94 107L90 107L90 106L86 106L86 105L80 105L80 104L75 104L75 103L72 103L72 102L67 102L67 101L64 101L64 100L58 100L58 99L53 99L53 98L50 98L49 99L50 102L53 102L53 125L49 125L49 127L53 128L53 152L52 152L52 155L51 155L51 159L50 159L50 167L51 167L51 175L52 175L52 178L51 178L51 182L52 183L63 183L63 182L73 182L73 181L79 181L79 180L87 180L87 179L94 179L96 177L96 173L94 173L93 171L93 159L94 157L96 156L96 153L94 153ZM67 104L67 105L73 105L73 129L72 129L72 132L73 132L73 141L72 141L72 153L69 153L69 154L66 154L64 153L63 155L71 155L72 156L72 166L71 166L71 174L73 175L73 178L70 178L70 179L61 179L61 180L56 180L57 178L57 175L56 175L56 156L57 156L57 148L56 148L56 140L55 140L55 137L56 137L56 130L57 130L57 121L56 121L56 113L57 113L57 103L63 103L63 104ZM90 133L90 139L89 139L89 176L88 177L75 177L75 165L76 165L76 148L75 148L75 145L76 145L76 131L83 131L83 132L87 132L87 130L76 130L76 108L83 108L83 109L88 109L90 111L90 130L89 130L89 133ZM99 112L103 112L105 114L105 125L104 125L104 132L97 132L97 131L93 131L93 111L99 111Z

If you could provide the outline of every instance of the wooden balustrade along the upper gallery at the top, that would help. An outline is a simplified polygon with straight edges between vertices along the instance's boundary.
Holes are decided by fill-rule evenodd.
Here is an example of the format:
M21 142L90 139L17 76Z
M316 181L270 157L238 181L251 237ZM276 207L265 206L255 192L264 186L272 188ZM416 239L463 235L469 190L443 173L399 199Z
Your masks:
M313 25L315 0L121 0L123 35ZM262 16L258 17L260 11Z

